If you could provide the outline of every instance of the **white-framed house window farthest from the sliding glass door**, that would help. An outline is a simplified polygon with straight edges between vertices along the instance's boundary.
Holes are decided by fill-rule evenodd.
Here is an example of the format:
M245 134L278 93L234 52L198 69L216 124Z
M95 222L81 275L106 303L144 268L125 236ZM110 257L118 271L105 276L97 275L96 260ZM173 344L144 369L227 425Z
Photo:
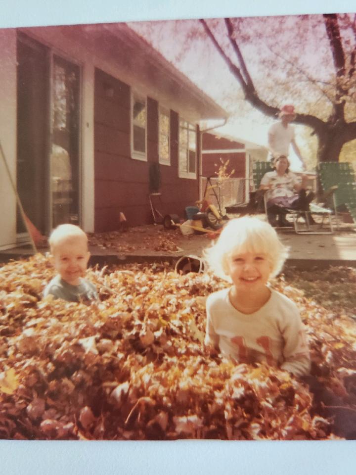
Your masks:
M196 129L194 124L179 119L180 178L196 178Z

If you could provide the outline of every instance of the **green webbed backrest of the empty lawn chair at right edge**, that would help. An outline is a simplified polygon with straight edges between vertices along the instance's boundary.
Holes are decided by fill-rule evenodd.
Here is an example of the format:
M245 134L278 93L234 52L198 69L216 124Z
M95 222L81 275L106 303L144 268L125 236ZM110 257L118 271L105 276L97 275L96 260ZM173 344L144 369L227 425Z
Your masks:
M335 217L338 218L339 211L349 211L356 223L356 178L351 163L322 162L317 173Z

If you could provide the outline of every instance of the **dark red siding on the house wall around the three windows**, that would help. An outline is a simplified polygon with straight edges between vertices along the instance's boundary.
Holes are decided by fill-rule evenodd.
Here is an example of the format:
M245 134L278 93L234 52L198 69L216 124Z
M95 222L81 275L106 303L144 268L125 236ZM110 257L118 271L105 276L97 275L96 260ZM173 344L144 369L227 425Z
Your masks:
M133 226L153 222L148 203L149 167L158 162L158 102L147 97L147 162L131 158L130 112L130 87L96 69L94 226L97 232L118 229L120 212L124 212ZM171 110L170 117L171 165L160 165L162 211L183 217L185 206L198 199L199 182L178 177L178 114ZM198 160L196 166L198 170Z

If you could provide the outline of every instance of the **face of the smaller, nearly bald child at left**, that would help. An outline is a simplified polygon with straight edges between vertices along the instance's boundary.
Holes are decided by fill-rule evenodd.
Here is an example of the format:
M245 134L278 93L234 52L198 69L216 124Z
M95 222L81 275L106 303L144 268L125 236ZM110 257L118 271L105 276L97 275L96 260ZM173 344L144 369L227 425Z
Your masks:
M61 278L70 285L79 285L85 276L90 253L83 238L64 241L53 249L53 265Z

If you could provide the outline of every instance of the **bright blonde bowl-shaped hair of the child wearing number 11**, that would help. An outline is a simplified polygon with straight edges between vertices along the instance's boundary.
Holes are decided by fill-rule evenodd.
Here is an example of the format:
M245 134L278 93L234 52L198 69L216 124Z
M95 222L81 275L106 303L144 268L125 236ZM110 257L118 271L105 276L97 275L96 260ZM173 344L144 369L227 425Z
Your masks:
M204 258L214 273L229 280L228 258L233 253L254 252L265 254L271 265L270 277L276 276L288 256L275 230L266 221L245 216L229 221L216 243L205 249Z

